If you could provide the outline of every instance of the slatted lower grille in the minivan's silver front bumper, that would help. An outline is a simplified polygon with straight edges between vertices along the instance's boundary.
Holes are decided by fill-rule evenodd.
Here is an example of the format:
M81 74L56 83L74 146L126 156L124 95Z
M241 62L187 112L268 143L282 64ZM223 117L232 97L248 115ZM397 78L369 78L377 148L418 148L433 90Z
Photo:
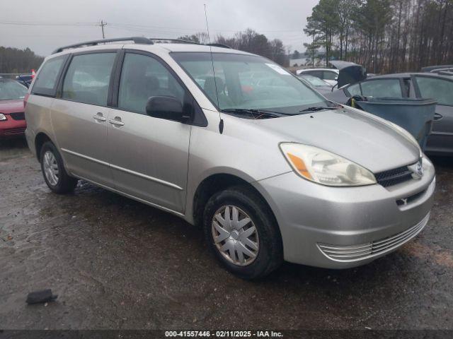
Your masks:
M408 228L403 232L395 234L391 237L369 242L367 244L338 246L331 244L318 244L319 249L325 256L333 261L360 261L369 258L374 258L386 252L396 249L398 246L408 242L415 237L423 227L428 223L430 213L425 216L417 225Z

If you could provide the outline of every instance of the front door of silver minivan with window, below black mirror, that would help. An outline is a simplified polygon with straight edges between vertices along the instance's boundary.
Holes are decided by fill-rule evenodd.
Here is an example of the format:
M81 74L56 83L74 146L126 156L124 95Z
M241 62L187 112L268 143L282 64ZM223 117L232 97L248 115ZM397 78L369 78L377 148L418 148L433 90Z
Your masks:
M187 93L161 61L126 52L117 109L108 116L110 168L119 191L183 213L191 126L149 117L145 107L155 95L184 104Z

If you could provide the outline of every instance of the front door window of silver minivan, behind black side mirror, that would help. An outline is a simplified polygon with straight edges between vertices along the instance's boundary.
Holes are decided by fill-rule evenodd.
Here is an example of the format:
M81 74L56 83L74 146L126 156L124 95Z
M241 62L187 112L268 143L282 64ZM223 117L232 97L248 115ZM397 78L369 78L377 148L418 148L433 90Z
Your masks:
M165 95L184 103L184 88L176 78L152 57L127 53L122 65L118 107L146 114L149 97Z

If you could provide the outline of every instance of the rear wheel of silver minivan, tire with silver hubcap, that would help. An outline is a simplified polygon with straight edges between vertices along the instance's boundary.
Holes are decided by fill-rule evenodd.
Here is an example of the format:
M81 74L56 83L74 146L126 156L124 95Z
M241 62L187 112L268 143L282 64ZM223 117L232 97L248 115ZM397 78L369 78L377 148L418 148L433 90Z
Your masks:
M66 169L64 169L62 156L59 154L55 145L50 141L47 141L42 145L40 150L40 162L45 183L53 192L64 194L74 191L79 180L70 177L69 174L67 174ZM52 169L55 169L54 171L51 171L55 175L49 174L49 172L46 173L49 166L52 167Z

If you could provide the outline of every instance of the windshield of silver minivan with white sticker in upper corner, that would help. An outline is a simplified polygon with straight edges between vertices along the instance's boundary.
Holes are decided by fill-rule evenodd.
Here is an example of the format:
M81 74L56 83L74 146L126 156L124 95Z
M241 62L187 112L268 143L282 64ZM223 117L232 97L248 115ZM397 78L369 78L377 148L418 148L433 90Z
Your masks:
M221 110L299 114L308 107L328 107L326 98L263 57L212 53L213 71L209 52L173 52L171 56Z

